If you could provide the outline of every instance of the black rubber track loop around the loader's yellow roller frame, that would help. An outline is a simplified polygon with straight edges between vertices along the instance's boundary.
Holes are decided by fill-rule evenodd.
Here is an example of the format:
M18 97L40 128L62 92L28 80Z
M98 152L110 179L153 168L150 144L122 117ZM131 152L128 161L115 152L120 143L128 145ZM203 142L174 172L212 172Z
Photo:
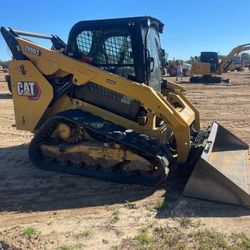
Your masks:
M106 172L101 169L94 170L86 167L77 167L73 164L61 166L56 162L45 163L41 158L40 145L55 143L50 135L60 122L75 123L108 141L124 145L127 149L150 161L152 165L158 166L158 174L142 176L139 174L139 171L135 171L133 175L124 175L119 171L119 164L114 167L112 172ZM49 171L83 175L112 182L149 186L157 186L166 179L169 160L171 160L169 149L166 146L162 148L157 144L156 140L144 134L126 130L120 125L82 110L67 110L48 119L32 139L29 146L29 157L38 168Z

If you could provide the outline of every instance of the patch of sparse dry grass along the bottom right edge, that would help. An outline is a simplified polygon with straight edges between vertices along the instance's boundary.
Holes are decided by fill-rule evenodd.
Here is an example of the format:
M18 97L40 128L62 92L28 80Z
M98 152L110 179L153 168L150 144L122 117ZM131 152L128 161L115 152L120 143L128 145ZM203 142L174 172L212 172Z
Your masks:
M250 239L245 234L228 235L193 225L191 219L181 218L177 227L147 227L135 237L123 239L117 249L250 249Z

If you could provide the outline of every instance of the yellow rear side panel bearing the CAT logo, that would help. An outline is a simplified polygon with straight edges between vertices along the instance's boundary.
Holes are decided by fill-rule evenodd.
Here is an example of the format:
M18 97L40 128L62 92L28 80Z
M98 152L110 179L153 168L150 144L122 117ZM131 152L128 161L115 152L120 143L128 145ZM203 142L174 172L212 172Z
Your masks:
M53 98L53 89L28 60L9 62L16 127L34 131Z

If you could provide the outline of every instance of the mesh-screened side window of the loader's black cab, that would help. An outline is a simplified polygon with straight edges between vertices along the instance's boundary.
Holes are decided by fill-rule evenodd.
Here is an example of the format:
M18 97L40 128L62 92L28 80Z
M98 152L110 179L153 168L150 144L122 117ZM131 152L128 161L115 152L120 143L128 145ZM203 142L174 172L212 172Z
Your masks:
M127 30L86 30L76 37L77 58L128 78L135 76L131 37Z

